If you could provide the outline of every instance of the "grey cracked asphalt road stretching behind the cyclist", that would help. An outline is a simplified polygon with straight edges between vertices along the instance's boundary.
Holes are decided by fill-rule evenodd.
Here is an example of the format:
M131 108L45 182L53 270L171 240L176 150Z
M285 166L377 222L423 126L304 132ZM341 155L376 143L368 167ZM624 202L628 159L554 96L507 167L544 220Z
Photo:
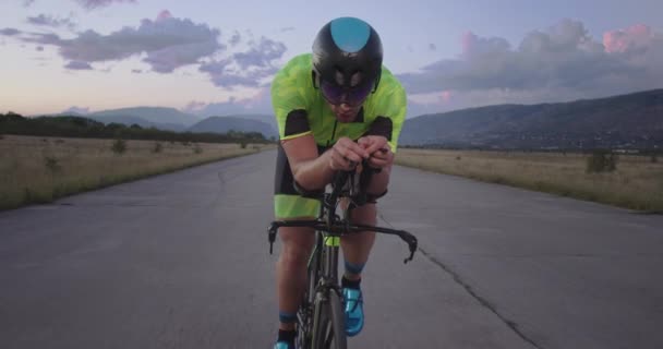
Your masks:
M275 152L0 213L0 348L270 348ZM351 348L663 348L663 217L396 168ZM278 253L280 244L275 245Z

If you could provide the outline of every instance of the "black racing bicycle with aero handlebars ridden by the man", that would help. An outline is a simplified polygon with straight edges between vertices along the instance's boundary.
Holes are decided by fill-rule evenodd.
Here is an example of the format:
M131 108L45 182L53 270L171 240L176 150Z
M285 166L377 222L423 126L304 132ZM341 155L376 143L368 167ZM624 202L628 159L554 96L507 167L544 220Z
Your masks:
M317 219L275 220L267 228L270 254L280 227L311 227L315 232L315 243L308 263L306 289L297 311L298 349L347 348L343 299L338 280L340 237L361 231L398 236L410 251L403 263L412 261L417 251L417 238L405 230L351 222L351 210L369 202L365 188L371 176L379 171L371 169L366 160L361 169L337 171L332 185L327 185L325 191L306 192L294 183L303 196L321 202ZM343 201L345 204L340 205ZM342 217L337 214L339 205Z

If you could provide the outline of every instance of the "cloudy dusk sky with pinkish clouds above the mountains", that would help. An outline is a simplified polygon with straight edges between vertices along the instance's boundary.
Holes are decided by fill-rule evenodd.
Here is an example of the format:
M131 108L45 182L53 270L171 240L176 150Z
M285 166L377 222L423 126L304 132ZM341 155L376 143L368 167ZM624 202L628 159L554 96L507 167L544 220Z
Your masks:
M381 34L409 117L663 87L661 0L2 0L0 13L0 112L269 113L275 72L345 15Z

